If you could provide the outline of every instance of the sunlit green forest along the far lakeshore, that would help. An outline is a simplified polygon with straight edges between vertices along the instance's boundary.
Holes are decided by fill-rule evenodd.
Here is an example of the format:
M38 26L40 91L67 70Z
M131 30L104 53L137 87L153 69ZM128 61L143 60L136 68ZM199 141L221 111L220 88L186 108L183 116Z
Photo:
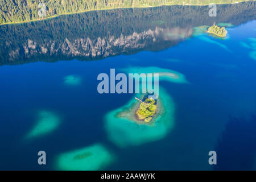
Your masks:
M119 7L150 7L160 5L207 5L209 3L235 3L249 0L0 0L0 24L28 22L42 19L40 3L46 5L44 18L79 13L88 10Z

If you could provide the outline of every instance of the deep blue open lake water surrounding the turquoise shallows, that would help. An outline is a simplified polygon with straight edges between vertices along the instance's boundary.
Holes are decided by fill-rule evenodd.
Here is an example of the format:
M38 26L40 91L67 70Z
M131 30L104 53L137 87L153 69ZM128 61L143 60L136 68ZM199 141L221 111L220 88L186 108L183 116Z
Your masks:
M256 169L256 127L247 125L256 109L256 60L249 56L253 49L241 46L248 38L256 38L255 29L253 20L227 28L229 39L203 34L161 51L98 61L3 65L0 169L56 169L57 155L98 142L117 158L104 169ZM204 38L224 44L229 51ZM106 137L104 115L125 105L133 95L99 94L97 75L109 74L110 68L118 73L118 69L131 66L172 69L183 73L189 84L160 82L176 105L174 128L161 140L124 150ZM80 76L81 84L65 85L63 78L68 75ZM27 141L24 135L34 125L39 110L58 115L60 126ZM230 124L230 118L241 118L240 125ZM37 163L40 150L47 152L46 166ZM208 164L211 150L220 154L219 166Z

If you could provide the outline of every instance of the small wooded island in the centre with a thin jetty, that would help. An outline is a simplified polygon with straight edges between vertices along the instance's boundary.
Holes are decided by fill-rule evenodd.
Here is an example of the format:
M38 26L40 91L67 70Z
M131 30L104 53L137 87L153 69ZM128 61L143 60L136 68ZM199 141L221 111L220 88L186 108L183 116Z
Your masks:
M139 100L138 98L136 99ZM156 114L156 109L157 109L156 101L152 97L150 97L150 98L146 98L144 101L141 101L141 104L136 110L136 114L139 120L148 123L151 121L152 117Z

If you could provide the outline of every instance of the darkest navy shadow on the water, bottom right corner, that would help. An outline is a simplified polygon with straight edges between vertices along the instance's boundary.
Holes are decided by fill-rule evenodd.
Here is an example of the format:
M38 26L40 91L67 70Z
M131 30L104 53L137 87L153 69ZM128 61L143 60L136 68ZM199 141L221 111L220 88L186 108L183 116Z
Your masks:
M230 118L216 146L214 170L253 170L256 156L256 115Z

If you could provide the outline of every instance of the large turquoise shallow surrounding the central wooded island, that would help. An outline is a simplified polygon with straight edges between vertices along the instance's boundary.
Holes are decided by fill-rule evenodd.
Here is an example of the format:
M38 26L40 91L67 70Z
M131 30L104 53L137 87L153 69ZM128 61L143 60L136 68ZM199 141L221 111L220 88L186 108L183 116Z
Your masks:
M159 88L158 106L158 113L150 123L135 118L138 101L134 98L107 113L104 119L109 140L119 147L127 147L164 138L174 126L175 104L163 88Z

